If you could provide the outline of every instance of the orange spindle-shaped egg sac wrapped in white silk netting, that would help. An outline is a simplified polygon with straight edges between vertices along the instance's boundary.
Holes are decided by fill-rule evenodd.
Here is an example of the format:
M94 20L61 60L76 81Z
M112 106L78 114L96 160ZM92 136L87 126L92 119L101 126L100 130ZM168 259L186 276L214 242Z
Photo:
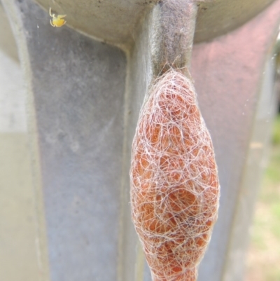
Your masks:
M194 281L217 219L211 137L192 81L174 69L153 81L132 144L132 221L153 281Z

